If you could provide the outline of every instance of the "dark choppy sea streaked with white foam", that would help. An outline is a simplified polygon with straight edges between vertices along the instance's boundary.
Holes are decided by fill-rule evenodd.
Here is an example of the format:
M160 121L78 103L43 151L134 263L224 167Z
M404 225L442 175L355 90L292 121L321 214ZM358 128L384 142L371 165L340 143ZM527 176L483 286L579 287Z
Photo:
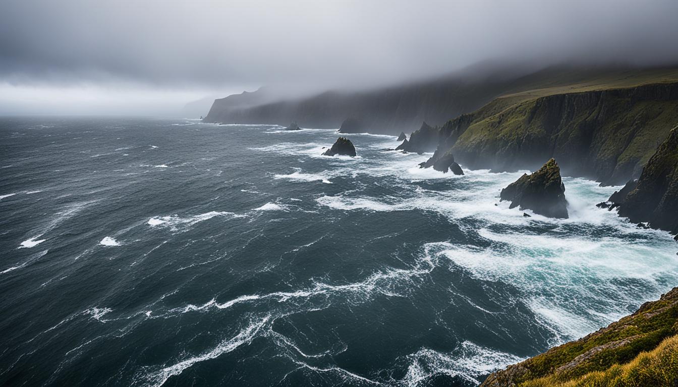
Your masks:
M473 386L678 284L675 242L333 131L0 120L0 384ZM498 205L496 205L498 203Z

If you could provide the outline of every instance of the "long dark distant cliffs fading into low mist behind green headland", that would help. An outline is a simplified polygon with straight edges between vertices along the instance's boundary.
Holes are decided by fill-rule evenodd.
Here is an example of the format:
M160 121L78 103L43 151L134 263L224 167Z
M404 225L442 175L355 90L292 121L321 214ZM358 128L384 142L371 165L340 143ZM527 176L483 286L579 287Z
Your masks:
M422 121L442 125L471 113L498 96L539 87L586 81L609 73L604 68L551 67L525 70L479 64L458 73L424 81L362 91L324 91L310 96L285 96L263 87L214 101L205 122L266 123L338 128L351 118L375 134L410 133Z

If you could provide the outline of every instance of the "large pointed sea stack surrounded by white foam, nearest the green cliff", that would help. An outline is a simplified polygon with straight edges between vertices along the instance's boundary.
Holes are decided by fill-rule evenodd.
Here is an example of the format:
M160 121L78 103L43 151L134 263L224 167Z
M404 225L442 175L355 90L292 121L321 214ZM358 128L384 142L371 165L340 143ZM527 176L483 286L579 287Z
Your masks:
M511 201L511 208L532 209L550 218L567 218L565 185L555 159L546 161L541 169L506 186L500 194L502 201Z

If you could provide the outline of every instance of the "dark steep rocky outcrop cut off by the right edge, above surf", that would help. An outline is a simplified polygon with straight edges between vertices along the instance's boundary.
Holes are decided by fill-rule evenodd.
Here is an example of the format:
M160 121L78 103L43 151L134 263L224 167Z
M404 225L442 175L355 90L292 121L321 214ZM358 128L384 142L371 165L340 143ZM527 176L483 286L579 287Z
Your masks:
M678 232L678 126L647 161L635 188L619 204L619 215Z

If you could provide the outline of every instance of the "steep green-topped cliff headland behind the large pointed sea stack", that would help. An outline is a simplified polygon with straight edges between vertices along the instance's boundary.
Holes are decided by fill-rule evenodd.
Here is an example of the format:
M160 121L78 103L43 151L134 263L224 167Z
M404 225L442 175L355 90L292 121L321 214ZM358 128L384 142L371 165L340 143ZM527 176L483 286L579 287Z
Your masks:
M498 98L441 128L447 150L472 169L536 169L558 159L563 174L624 184L678 122L678 83L555 94L511 104Z

